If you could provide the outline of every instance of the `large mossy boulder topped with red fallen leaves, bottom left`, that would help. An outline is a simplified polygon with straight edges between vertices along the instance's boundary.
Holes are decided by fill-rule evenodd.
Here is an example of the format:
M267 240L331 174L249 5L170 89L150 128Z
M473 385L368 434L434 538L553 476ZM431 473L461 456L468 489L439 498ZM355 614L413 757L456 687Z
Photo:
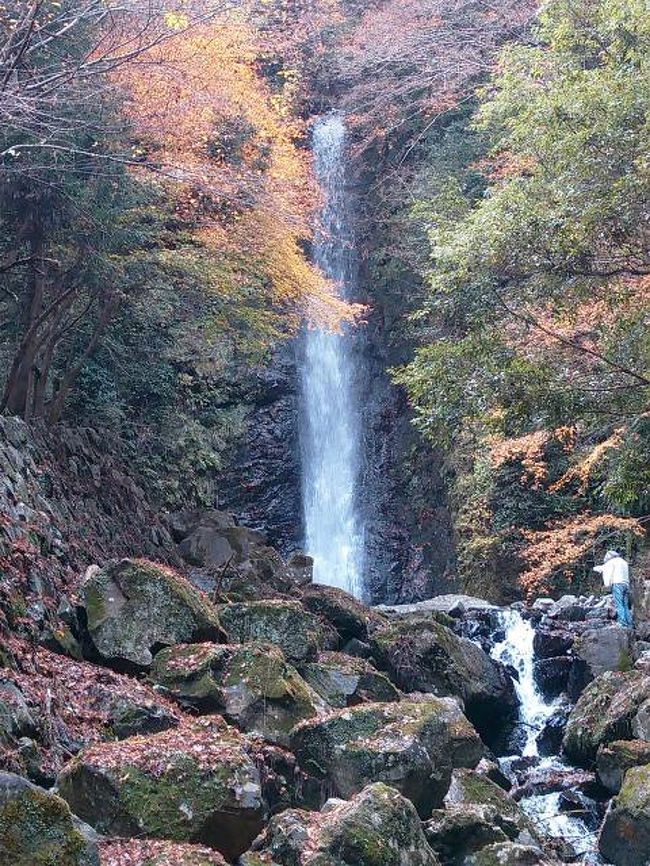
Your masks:
M267 813L252 747L218 717L90 746L66 765L58 788L101 833L200 842L230 859Z

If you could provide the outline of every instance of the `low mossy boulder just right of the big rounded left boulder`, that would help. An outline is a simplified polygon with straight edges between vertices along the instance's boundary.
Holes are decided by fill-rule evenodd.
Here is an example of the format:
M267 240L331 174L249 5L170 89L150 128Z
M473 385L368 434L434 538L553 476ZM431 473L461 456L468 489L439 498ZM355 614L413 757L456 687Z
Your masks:
M292 662L314 658L337 643L332 630L297 601L226 604L219 607L219 616L231 643L273 643Z

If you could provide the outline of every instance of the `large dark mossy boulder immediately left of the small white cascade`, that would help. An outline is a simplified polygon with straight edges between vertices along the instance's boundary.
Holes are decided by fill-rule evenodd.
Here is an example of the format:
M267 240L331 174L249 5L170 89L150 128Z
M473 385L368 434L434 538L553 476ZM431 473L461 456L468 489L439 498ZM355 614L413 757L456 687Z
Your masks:
M406 692L456 695L481 733L516 714L517 696L503 665L431 616L397 620L370 644L380 668Z

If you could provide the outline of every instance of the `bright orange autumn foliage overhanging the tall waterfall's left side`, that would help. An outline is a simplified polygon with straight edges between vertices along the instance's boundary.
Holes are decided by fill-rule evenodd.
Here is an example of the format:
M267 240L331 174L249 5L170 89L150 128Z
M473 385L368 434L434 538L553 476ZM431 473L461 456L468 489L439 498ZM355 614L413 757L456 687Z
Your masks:
M302 125L261 77L260 50L250 23L224 14L119 70L135 154L197 241L236 263L236 283L261 276L271 303L287 310L315 298L320 323L335 327L357 310L305 255L318 191Z

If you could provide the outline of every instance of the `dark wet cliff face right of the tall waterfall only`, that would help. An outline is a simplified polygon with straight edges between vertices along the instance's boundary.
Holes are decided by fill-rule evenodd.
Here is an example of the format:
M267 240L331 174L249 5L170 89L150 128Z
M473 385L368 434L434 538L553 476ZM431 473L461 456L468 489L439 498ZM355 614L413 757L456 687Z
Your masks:
M405 395L388 377L394 361L386 336L376 306L363 338L367 398L361 502L369 597L399 603L452 592L456 584L441 457L413 428Z

